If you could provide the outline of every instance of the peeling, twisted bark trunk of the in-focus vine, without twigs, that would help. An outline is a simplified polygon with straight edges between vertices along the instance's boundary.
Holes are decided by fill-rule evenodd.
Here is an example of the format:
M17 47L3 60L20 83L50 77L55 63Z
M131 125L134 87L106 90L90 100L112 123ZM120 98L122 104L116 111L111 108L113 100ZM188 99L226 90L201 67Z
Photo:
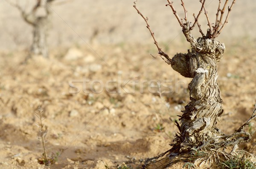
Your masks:
M217 65L225 46L216 39L199 37L196 40L186 28L183 28L183 34L190 42L192 52L176 54L172 58L172 68L184 77L193 78L189 83L191 101L180 116L180 134L175 138L176 145L187 151L218 135L215 125L223 109Z

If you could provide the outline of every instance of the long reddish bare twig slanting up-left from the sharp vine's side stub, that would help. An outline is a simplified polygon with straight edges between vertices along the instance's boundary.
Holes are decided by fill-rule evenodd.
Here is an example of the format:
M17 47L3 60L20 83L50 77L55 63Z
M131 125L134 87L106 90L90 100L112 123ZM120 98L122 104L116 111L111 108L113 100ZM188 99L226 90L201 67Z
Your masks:
M151 31L151 28L150 28L150 26L149 26L149 24L148 24L148 18L147 18L147 17L145 18L145 17L143 16L143 14L137 9L137 7L136 7L136 2L134 2L134 8L137 10L138 14L140 14L140 16L143 17L143 19L145 20L145 22L146 22L146 24L147 24L146 27L148 28L148 30L150 31L150 34L151 34L152 38L154 39L154 44L157 46L158 54L160 54L161 56L165 57L167 60L165 60L163 57L162 57L162 59L163 59L166 63L168 63L168 64L170 65L170 64L172 63L172 59L170 59L169 56L168 56L168 54L164 53L164 52L162 51L162 49L159 47L159 45L158 45L158 43L157 43L157 40L156 40L155 37L154 37L154 32Z

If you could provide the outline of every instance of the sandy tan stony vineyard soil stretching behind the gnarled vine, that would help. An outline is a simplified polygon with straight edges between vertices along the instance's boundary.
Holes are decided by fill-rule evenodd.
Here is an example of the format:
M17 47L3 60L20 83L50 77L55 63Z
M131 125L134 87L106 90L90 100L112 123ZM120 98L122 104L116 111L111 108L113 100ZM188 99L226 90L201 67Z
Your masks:
M160 6L147 2L141 0L138 6L158 21L152 27L159 32L160 45L170 56L186 52L189 44L179 34L177 21L170 23L171 12L152 14L166 10L160 7L165 1ZM256 103L255 3L251 2L237 2L236 7L240 4L244 10L234 10L233 21L224 30L230 34L219 38L227 48L218 79L224 105L218 127L225 133L241 126ZM15 9L0 1L0 29L9 31L0 36L1 169L105 169L122 162L136 168L170 148L177 131L174 121L189 102L191 79L150 56L157 56L156 48L131 5L125 0L74 0L55 6L66 23L53 16L49 59L33 57L24 63L31 30ZM241 15L245 10L246 17ZM168 20L160 22L163 16ZM90 40L95 29L99 35ZM38 163L43 153L35 115L39 104L48 130L48 157L64 149L50 166ZM255 132L255 125L247 131ZM255 141L256 136L241 148L255 153Z

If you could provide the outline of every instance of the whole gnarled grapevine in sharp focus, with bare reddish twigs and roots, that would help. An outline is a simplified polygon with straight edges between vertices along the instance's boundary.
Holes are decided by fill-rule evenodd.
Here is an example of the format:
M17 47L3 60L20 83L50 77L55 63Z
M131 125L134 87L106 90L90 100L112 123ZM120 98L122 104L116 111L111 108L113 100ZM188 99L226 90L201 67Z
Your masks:
M182 111L183 114L179 119L180 124L176 121L176 125L180 133L175 135L175 142L174 144L171 144L172 148L154 158L150 158L149 160L163 157L163 155L168 152L169 156L157 161L156 163L153 163L152 165L148 163L145 165L148 169L166 168L176 161L175 159L177 158L177 155L182 156L184 153L187 154L186 152L198 151L199 149L204 149L206 151L210 150L211 152L212 149L221 149L221 153L223 154L224 149L226 149L228 146L233 146L232 152L236 152L236 149L240 143L247 142L250 139L250 134L244 132L244 129L248 126L251 120L256 118L255 104L255 109L253 110L253 114L251 115L250 119L239 127L239 129L233 134L226 135L215 127L218 117L223 113L222 100L217 79L218 63L221 61L225 50L224 44L215 38L218 37L224 26L227 24L230 11L236 0L233 0L231 6L228 6L228 12L224 23L222 23L223 16L228 0L225 1L223 8L221 8L221 0L218 1L219 4L215 18L215 25L209 21L208 12L204 5L206 0L200 0L202 6L197 16L193 14L195 19L193 24L187 20L187 11L183 0L181 0L181 6L183 6L184 9L185 22L183 18L180 18L177 14L177 11L173 6L173 2L170 0L167 0L167 2L168 4L166 6L170 6L172 8L172 12L177 18L180 26L182 27L183 34L185 35L187 41L191 44L192 48L191 52L188 51L187 54L176 54L172 59L170 59L168 54L164 53L159 47L154 37L154 33L151 31L150 25L148 24L148 18L144 17L143 14L137 9L136 2L134 2L134 8L145 20L147 28L151 33L154 44L157 46L158 54L160 54L161 58L166 63L171 65L172 68L179 72L182 76L193 78L189 83L189 94L191 101L188 105L186 105L185 110ZM201 29L201 25L198 23L198 18L203 10L209 26L206 36ZM219 13L221 13L220 17ZM199 32L202 35L202 37L199 37L198 39L195 39L190 33L195 24L198 25ZM217 151L216 153L218 156ZM226 160L228 158L233 159L233 154L231 153L230 155L224 156ZM215 158L214 155L213 157ZM209 159L210 164L211 158L212 156L209 155L207 160L204 161L207 163ZM217 163L216 158L215 162Z

